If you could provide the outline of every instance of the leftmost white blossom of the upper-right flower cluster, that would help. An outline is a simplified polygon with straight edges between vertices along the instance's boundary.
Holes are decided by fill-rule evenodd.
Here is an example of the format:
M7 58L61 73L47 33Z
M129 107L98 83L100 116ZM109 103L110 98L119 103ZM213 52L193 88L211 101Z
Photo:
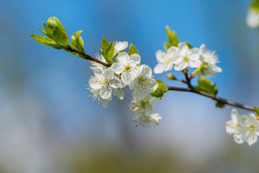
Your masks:
M166 52L162 52L161 50L158 50L156 52L156 59L158 61L158 64L154 67L154 73L160 74L166 71L169 71L173 68L173 56L172 54L177 54L178 49L174 46L171 46Z

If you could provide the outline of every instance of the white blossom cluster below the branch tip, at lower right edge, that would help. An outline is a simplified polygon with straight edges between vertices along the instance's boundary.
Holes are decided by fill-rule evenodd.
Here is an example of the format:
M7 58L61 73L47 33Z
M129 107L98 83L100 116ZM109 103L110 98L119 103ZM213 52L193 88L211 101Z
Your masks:
M236 109L232 109L231 120L226 121L226 132L233 135L236 143L247 142L252 145L257 141L259 135L258 115L252 113L247 115L239 115Z

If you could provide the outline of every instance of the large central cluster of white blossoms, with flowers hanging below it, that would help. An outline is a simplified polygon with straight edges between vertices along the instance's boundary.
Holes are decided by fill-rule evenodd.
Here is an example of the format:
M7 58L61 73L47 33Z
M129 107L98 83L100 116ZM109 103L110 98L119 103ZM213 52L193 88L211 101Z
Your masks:
M133 94L129 109L134 111L132 118L135 122L145 127L159 125L158 120L161 119L161 116L152 114L153 109L147 95L158 88L158 82L153 79L152 69L148 65L139 65L141 58L137 53L128 55L126 52L121 52L127 47L128 42L114 42L113 56L116 58L116 62L112 62L111 67L107 68L90 61L90 69L93 70L94 76L90 77L90 88L87 89L91 93L93 101L101 101L103 107L106 107L112 100L112 94L123 99L123 88L128 86ZM107 63L103 55L97 54L95 57Z

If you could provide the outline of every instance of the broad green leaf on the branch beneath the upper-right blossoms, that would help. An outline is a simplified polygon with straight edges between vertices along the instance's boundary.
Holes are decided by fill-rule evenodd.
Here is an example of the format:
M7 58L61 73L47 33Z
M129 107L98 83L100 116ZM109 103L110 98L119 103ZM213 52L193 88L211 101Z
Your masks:
M194 87L194 89L209 93L214 96L217 94L216 84L213 84L206 77L200 77L198 79L198 86Z

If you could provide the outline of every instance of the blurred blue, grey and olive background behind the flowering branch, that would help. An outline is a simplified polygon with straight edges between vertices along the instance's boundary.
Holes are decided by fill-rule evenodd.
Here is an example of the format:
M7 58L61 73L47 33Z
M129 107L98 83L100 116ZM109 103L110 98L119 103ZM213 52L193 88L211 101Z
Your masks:
M232 107L169 91L154 106L164 121L135 127L130 94L107 108L90 102L89 62L29 36L43 35L37 27L55 16L69 36L83 30L87 54L99 52L105 36L133 43L154 68L168 25L179 41L217 51L223 72L211 80L219 96L258 106L259 31L245 23L249 2L0 1L0 172L258 172L259 142L238 145L226 134ZM184 87L166 74L155 78Z

